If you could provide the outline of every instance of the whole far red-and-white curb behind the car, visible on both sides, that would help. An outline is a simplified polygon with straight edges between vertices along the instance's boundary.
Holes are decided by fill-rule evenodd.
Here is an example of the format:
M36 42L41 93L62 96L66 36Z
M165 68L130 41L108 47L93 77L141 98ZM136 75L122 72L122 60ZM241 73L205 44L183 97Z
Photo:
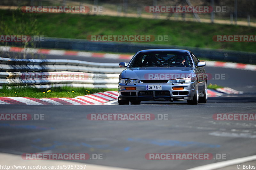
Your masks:
M24 52L24 48L20 47L9 47L0 46L0 52ZM50 50L50 49L34 49L26 48L27 53L37 53L37 54L49 54L58 56L78 56L78 57L93 57L93 58L110 58L110 59L127 59L130 60L133 55L126 54L110 54L110 53L94 53L94 52L83 52L83 51L67 51L67 50ZM220 61L205 61L206 66L210 67L223 67L223 68L235 68L242 70L256 71L256 65L251 64L241 64L241 63L231 63L231 62L220 62Z

